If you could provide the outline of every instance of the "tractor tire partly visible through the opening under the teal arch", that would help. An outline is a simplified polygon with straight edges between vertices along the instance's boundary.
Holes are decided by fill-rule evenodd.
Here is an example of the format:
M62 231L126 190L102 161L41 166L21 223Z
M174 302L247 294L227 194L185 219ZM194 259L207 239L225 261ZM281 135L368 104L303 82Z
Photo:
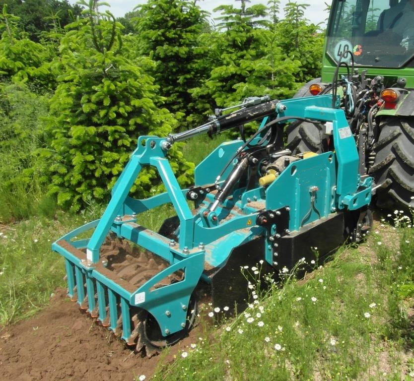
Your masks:
M293 155L322 152L323 126L320 123L293 122L286 128L287 146Z

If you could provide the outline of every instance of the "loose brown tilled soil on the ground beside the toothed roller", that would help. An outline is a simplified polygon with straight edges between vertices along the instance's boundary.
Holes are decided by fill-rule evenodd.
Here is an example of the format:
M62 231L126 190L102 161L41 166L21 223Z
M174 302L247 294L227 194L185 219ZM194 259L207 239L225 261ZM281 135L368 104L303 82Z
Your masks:
M80 312L66 290L59 289L34 318L0 331L0 380L133 381L140 375L149 380L161 359L173 361L191 342L185 338L167 356L142 357Z

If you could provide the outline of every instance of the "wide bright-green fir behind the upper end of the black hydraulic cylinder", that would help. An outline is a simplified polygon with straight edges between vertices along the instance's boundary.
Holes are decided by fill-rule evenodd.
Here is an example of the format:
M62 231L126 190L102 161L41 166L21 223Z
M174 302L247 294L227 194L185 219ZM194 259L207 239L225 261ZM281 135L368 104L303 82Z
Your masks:
M218 27L223 31L205 37L213 42L213 67L207 81L193 90L194 97L210 97L220 107L254 95L286 98L301 81L300 60L289 57L280 46L279 24L265 19L268 13L264 5L245 5L242 3L241 9L232 5L216 8L222 12ZM270 11L277 22L278 1L271 2Z

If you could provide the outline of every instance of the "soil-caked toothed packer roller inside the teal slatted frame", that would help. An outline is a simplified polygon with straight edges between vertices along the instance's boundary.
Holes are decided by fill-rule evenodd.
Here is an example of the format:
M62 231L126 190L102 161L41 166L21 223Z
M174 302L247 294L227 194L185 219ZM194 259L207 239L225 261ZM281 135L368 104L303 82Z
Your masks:
M86 250L83 252L85 253ZM120 239L112 233L108 234L105 242L101 246L100 260L102 263L105 263L106 269L112 272L114 279L121 279L122 281L128 282L130 289L138 289L138 287L151 279L154 275L169 266L169 263L163 258L143 250L127 240ZM191 308L193 313L188 318L188 329L183 329L182 332L180 331L176 334L172 334L172 337L162 337L160 333L158 336L154 335L154 332L156 331L154 325L156 322L150 314L138 307L125 306L125 301L124 306L122 306L122 298L117 296L112 290L102 286L102 284L98 285L98 282L94 278L87 278L86 275L81 275L80 278L79 270L76 269L76 266L73 264L70 264L70 266L71 269L69 271L72 272L72 278L76 279L71 299L79 302L77 283L83 283L81 295L85 296L79 304L81 310L87 310L87 281L93 282L95 305L93 309L88 311L90 316L92 318L98 318L102 326L109 327L117 337L122 336L126 340L128 346L135 346L135 351L145 353L148 358L158 354L161 348L179 341L183 335L187 334L189 328L194 324L194 317L197 313L197 304L195 302L193 302L193 307ZM76 272L78 272L77 277L75 276ZM181 270L176 271L162 279L153 288L157 289L168 286L183 280L183 278L184 272ZM82 279L82 281L78 282L78 279ZM98 297L98 287L101 287L101 294L104 294L103 297L102 295L100 298ZM105 301L105 307L104 309L102 309L102 307L100 309L99 302L102 304L103 301ZM104 311L103 315L105 318L103 319L99 318L99 311L101 310ZM111 313L114 315L114 310L116 310L116 319L111 318ZM123 316L125 313L129 314L128 320ZM129 324L129 330L127 331L129 334L127 337L125 337L123 326L126 321L128 321Z

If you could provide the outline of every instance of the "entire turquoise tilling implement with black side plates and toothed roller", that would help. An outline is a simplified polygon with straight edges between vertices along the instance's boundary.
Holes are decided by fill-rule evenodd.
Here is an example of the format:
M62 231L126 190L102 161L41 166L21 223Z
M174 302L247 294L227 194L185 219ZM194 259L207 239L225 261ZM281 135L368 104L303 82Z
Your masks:
M194 325L200 282L211 290L214 306L243 306L241 266L263 260L266 271L277 274L302 257L313 259L312 247L322 257L352 234L366 233L372 178L358 174L355 138L344 111L331 104L332 95L254 98L201 127L165 138L140 136L102 217L52 246L65 258L69 297L152 356ZM250 139L220 144L196 167L195 185L180 188L167 159L174 142L258 119ZM334 149L292 156L282 135L294 120L332 124L327 137ZM129 192L146 166L157 170L166 191L134 199ZM138 225L140 213L168 203L176 215L159 232ZM90 238L76 238L86 232ZM122 266L116 270L118 254L105 254L111 239L139 248L127 255L132 276Z

